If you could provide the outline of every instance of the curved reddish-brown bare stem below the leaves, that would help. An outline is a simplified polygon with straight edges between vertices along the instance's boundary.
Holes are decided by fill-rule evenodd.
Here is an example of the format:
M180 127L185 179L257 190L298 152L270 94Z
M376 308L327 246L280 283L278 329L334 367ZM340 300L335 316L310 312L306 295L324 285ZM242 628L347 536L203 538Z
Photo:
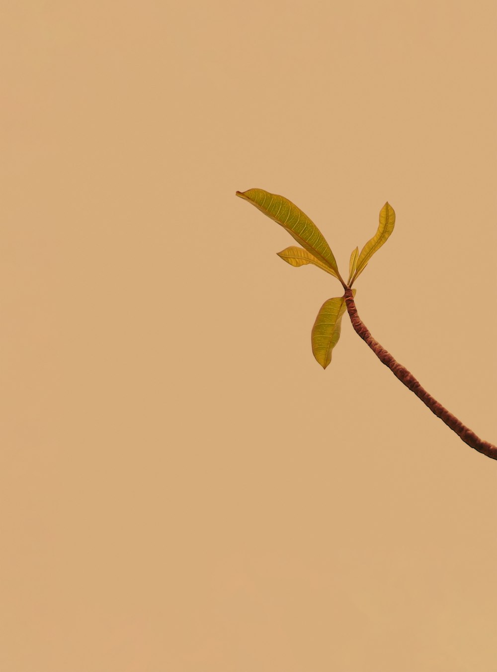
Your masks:
M497 446L489 444L488 441L482 441L482 439L480 439L474 433L474 431L471 431L471 429L463 425L463 423L461 423L461 421L458 420L455 415L449 413L449 411L447 411L447 409L445 409L441 403L434 399L433 396L431 396L431 394L429 394L425 388L421 386L419 381L416 380L416 378L404 366L402 366L402 364L396 362L392 355L390 355L390 353L387 352L386 349L384 349L384 347L378 343L378 341L375 341L370 331L366 328L366 325L364 325L359 315L357 314L357 308L355 308L352 290L349 288L345 290L345 303L347 304L347 310L349 312L350 321L353 328L355 331L357 331L360 337L366 341L366 343L368 343L380 362L383 362L385 366L388 366L392 374L394 374L394 376L396 376L400 382L403 382L411 392L414 392L416 396L419 396L423 404L427 405L432 413L435 413L437 417L443 420L447 427L450 427L453 431L455 431L457 436L459 436L459 438L461 438L465 444L471 446L475 450L478 450L478 452L483 453L487 457L492 458L492 460L497 460Z

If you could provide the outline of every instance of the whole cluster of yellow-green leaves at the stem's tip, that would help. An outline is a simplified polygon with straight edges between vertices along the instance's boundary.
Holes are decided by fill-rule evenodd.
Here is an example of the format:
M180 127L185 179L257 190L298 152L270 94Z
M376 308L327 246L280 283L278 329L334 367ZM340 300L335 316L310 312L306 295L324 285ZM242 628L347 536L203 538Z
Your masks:
M307 214L294 203L284 196L270 194L263 189L236 192L236 195L278 222L301 246L286 247L278 252L278 257L294 267L313 264L337 278L344 290L352 287L353 282L368 265L372 255L382 247L394 230L395 212L387 202L380 210L380 224L376 234L364 245L361 252L358 247L353 249L349 261L349 276L345 283L325 237ZM355 295L355 290L352 290L352 293ZM345 296L329 298L319 308L311 331L311 345L315 359L324 369L331 362L331 353L338 343L341 319L346 308Z

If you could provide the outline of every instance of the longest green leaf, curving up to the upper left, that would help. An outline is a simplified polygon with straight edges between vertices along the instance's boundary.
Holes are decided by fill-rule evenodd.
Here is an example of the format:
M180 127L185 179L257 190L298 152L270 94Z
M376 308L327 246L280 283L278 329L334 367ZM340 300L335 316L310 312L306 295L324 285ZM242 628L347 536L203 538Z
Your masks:
M288 198L270 194L262 189L249 189L247 192L236 192L236 195L252 203L265 215L281 224L297 243L328 266L333 271L332 275L341 280L337 262L323 234L311 222L307 214L297 208Z

